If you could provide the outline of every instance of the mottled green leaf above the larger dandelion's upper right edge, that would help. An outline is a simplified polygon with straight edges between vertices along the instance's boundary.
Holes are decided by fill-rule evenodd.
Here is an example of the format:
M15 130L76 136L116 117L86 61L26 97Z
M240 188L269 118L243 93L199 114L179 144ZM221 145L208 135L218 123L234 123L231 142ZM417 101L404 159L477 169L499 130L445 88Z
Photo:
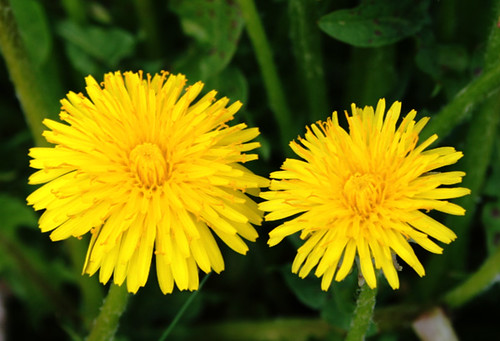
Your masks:
M176 0L170 8L179 16L184 33L195 41L175 69L196 79L222 71L233 58L243 29L238 6L224 0Z

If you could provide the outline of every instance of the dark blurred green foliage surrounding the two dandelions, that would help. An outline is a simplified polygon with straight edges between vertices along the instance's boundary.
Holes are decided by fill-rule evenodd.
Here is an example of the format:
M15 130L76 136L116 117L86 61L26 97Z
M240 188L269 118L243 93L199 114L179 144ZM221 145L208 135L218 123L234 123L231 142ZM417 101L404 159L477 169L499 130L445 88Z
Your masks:
M7 2L0 3L0 15L6 15ZM460 340L498 338L495 277L473 299L446 299L492 259L500 234L498 1L269 0L255 2L257 17L251 4L10 1L33 87L40 87L40 117L57 117L59 100L70 90L83 92L88 74L100 81L115 70L180 72L190 82L202 80L206 91L244 103L236 120L261 130L259 160L248 166L262 176L291 155L287 141L303 134L306 124L350 110L353 102L400 100L403 113L416 109L418 117L433 117L424 134L436 132L438 144L466 155L453 167L468 174L464 186L472 195L455 201L468 213L435 215L458 239L444 246L444 255L415 247L426 277L402 264L399 290L379 280L370 340L418 340L412 322L435 306L443 307ZM259 35L259 20L266 36ZM0 91L0 339L78 340L88 333L107 288L97 276L80 275L87 240L52 243L38 230L38 214L25 204L33 190L27 152L35 140L5 59ZM209 278L172 339L344 337L356 271L322 292L316 278L290 273L298 238L267 247L273 226L258 227L260 238L246 256L220 244L226 270ZM131 297L117 338L158 339L189 295L162 295L153 267L147 286Z

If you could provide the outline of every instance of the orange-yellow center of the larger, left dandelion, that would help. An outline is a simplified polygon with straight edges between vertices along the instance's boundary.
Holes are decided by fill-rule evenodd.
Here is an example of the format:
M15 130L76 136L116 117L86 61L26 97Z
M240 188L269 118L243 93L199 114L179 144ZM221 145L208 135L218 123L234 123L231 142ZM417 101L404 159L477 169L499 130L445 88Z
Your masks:
M154 143L137 145L129 155L130 170L147 188L161 185L168 177L167 161Z

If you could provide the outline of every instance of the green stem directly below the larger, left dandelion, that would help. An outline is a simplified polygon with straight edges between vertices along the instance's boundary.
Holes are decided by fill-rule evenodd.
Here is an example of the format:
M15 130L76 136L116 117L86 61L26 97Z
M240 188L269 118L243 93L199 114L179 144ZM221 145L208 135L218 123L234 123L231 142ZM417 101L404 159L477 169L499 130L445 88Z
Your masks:
M108 296L104 300L101 312L94 321L87 341L113 340L120 316L127 306L129 293L127 286L111 284Z

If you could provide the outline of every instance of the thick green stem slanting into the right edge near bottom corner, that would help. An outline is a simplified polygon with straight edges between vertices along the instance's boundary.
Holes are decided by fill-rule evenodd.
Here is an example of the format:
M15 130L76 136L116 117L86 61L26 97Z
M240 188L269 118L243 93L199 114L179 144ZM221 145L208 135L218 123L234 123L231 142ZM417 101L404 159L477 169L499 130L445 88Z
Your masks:
M447 293L444 302L450 307L459 307L493 284L500 273L500 245L483 263L477 272L464 283Z

